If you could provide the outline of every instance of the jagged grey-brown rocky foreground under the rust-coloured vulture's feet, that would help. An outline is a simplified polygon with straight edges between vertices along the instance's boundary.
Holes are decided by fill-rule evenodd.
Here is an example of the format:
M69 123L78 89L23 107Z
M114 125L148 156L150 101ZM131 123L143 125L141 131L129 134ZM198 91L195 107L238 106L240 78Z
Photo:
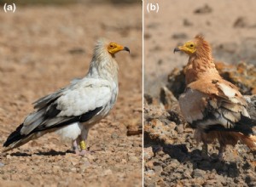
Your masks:
M256 95L247 96L250 115L256 119ZM218 143L210 144L211 160L201 157L194 131L184 122L172 92L163 87L160 103L145 95L145 186L255 186L256 161L247 146L228 147L218 161Z

